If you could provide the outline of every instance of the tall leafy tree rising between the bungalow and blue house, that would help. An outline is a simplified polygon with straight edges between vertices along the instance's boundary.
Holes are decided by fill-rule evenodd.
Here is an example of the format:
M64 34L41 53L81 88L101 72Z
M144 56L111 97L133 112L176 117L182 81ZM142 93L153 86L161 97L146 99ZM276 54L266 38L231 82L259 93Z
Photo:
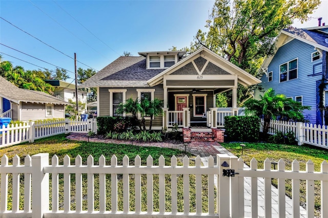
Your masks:
M259 77L258 69L263 59L273 54L279 31L294 19L307 20L319 4L320 0L216 0L206 23L208 32L198 30L191 51L206 46ZM239 88L242 102L255 86Z

